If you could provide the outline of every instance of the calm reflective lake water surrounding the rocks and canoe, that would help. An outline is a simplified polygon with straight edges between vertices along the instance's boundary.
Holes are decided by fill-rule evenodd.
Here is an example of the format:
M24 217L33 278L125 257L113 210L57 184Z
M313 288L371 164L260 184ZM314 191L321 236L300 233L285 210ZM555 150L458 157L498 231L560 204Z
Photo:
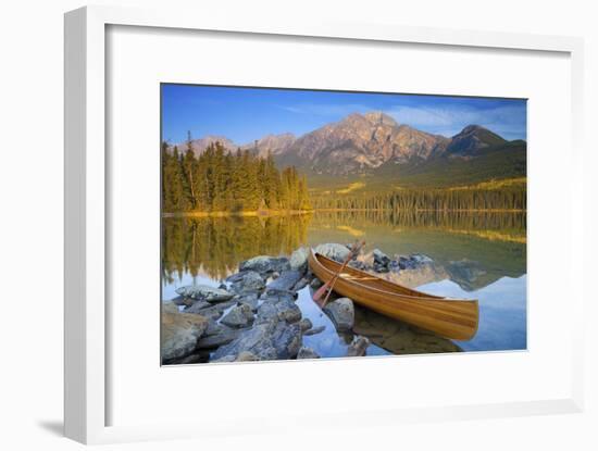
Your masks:
M369 337L373 354L526 349L526 223L524 213L320 212L277 217L163 220L162 298L195 283L217 286L239 262L260 254L289 255L300 246L348 243L356 238L395 253L424 253L436 263L412 286L452 298L479 300L477 335L451 342L356 305L354 331ZM338 334L311 300L297 300L303 316L323 333L303 343L322 356L341 356L352 335Z

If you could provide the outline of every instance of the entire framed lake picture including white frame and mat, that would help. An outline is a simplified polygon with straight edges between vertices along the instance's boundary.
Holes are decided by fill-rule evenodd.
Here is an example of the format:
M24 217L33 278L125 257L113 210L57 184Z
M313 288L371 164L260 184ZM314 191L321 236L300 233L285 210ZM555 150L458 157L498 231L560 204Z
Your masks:
M582 52L67 13L66 435L582 409Z

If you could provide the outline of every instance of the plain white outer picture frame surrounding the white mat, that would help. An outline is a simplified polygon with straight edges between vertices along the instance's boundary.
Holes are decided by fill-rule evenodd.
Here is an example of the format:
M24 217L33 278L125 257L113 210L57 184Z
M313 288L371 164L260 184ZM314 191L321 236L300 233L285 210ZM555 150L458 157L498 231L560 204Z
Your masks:
M242 18L219 17L209 10L199 15L186 12L145 11L110 7L86 7L65 15L65 435L85 443L104 443L182 437L228 435L226 425L204 425L192 430L186 425L147 424L107 426L107 175L105 161L105 54L107 27L125 25L189 30L215 30L269 36L319 37L348 43L364 41L409 42L488 52L501 49L558 52L571 63L571 202L580 216L573 221L571 255L583 261L581 143L583 100L583 41L572 37L533 36L491 32L449 30L354 23L246 23ZM107 181L108 180L108 181ZM575 234L575 230L577 231ZM583 305L581 288L571 292L574 310L571 390L559 399L521 402L445 405L354 413L322 413L292 417L295 427L347 428L456 417L496 417L578 412L583 409L582 352ZM155 324L158 327L158 324ZM281 363L278 365L286 365ZM314 421L314 416L317 421ZM289 416L272 414L264 421L245 422L236 434L270 433L288 427Z

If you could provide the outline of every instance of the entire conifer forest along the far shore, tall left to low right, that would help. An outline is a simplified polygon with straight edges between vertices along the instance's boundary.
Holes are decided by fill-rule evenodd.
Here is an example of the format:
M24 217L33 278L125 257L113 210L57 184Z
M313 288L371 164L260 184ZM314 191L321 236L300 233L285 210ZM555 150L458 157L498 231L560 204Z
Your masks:
M227 151L214 142L199 155L190 139L180 151L162 143L164 213L306 212L311 210L525 211L524 183L454 188L403 188L346 195L309 192L295 166L279 170L271 153ZM486 186L484 186L486 185Z

